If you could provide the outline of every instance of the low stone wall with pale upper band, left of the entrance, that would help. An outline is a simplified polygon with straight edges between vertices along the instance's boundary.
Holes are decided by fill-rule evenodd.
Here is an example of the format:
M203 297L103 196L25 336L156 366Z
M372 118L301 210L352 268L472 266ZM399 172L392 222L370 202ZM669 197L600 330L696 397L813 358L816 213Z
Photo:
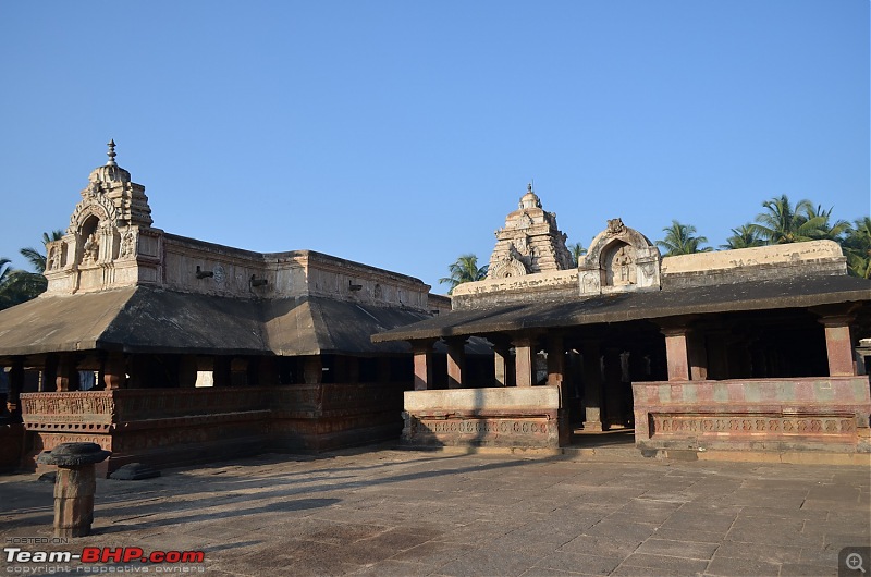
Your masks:
M406 391L402 440L430 447L555 449L561 432L564 442L568 434L559 416L556 386Z

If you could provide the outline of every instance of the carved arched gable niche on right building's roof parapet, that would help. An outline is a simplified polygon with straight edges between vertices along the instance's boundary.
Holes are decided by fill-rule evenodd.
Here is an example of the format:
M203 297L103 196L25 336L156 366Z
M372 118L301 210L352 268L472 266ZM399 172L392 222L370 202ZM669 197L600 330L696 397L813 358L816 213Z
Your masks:
M578 266L580 293L658 290L661 260L659 248L647 236L622 219L609 220Z

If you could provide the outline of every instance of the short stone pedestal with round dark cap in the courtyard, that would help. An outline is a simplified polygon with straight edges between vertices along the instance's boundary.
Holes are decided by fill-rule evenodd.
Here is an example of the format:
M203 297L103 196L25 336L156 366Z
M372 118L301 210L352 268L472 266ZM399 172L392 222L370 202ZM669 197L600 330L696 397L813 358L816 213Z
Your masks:
M95 463L109 456L97 443L63 443L39 455L44 465L56 465L54 537L90 535L94 523Z

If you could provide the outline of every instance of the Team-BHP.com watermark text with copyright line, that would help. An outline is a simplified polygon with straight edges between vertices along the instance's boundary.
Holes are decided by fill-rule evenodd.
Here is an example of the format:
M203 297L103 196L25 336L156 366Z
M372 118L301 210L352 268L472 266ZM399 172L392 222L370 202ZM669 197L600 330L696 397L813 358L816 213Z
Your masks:
M76 547L63 537L9 537L5 575L187 575L206 573L204 551L146 551L138 547Z

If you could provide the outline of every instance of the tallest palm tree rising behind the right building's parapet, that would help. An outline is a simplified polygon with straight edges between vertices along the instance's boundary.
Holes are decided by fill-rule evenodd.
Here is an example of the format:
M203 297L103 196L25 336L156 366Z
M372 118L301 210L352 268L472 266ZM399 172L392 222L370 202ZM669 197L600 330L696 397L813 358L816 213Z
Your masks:
M794 207L788 196L781 195L780 198L765 200L762 207L765 212L757 214L756 223L751 226L768 244L800 243L824 237L829 214L823 211L818 213L810 200L799 200Z

